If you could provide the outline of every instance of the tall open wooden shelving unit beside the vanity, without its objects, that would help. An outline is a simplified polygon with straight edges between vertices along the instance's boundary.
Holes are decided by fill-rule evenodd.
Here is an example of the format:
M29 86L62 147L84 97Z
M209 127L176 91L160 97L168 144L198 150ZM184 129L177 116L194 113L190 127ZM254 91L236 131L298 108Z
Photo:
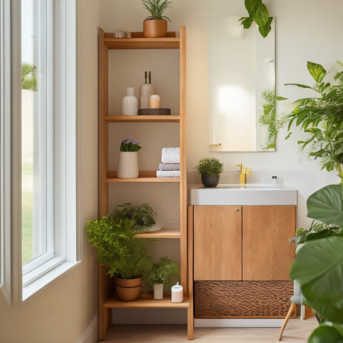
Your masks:
M137 300L121 301L117 298L113 281L106 274L106 268L99 265L98 272L98 339L106 338L108 322L111 309L120 308L179 308L187 309L187 336L193 339L193 287L192 276L188 270L189 249L187 233L187 169L186 169L186 36L185 26L180 27L180 34L168 32L163 38L143 38L143 32L131 32L131 38L113 38L113 33L104 32L99 28L99 218L108 214L110 205L110 193L115 192L115 187L121 184L132 184L134 187L141 183L149 185L155 183L156 187L165 183L178 185L180 206L178 209L176 227L163 227L161 230L139 233L137 237L173 239L178 241L180 248L180 284L183 287L183 300L180 303L173 303L170 296L163 300L154 300L152 294L140 294ZM118 108L111 110L109 114L109 50L116 49L178 49L179 51L179 108L176 115L119 115ZM156 50L152 51L155 54ZM139 54L139 51L137 51ZM174 55L173 55L174 56ZM111 75L112 78L112 75ZM110 170L109 167L109 129L112 126L122 125L154 125L154 123L178 124L176 137L180 148L180 176L179 177L156 177L156 170L139 170L137 178L119 178L117 170ZM146 123L146 124L145 124ZM168 124L169 125L169 124ZM112 133L111 133L112 134ZM115 167L113 168L115 169ZM117 186L113 185L117 184ZM113 185L110 187L110 185ZM120 186L126 187L126 186Z

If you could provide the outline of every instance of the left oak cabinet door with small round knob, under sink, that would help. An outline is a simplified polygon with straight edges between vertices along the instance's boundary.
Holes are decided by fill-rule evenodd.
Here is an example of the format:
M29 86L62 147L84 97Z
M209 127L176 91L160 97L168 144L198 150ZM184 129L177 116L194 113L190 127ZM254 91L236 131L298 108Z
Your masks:
M241 206L194 206L194 280L241 280Z

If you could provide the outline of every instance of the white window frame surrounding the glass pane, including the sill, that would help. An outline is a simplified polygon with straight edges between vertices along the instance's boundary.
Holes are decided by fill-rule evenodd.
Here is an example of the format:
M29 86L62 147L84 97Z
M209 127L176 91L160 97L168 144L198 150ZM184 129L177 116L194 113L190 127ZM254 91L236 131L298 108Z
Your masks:
M50 87L50 94L54 96L54 158L51 161L54 172L54 182L51 189L54 189L54 209L51 205L48 206L48 216L53 211L52 216L54 221L54 254L40 265L35 265L30 270L25 270L21 263L21 56L20 54L20 0L0 0L1 8L10 10L8 18L8 26L2 30L3 23L1 22L1 32L5 32L5 36L10 37L12 45L10 49L2 49L1 51L10 50L8 63L12 61L9 71L3 76L0 73L0 80L4 80L6 84L11 82L11 87L8 87L12 92L5 94L5 99L11 99L12 107L3 111L3 103L0 102L1 109L1 126L0 130L7 128L12 134L10 139L10 172L8 177L12 176L12 184L10 184L9 194L5 193L6 200L12 197L12 209L10 209L10 220L12 222L8 226L8 222L3 224L3 204L8 201L3 201L3 188L0 189L1 196L1 212L0 224L0 256L1 256L1 276L3 285L9 285L10 296L9 302L19 303L27 300L30 296L40 291L47 284L54 281L59 276L67 272L75 265L80 263L78 254L78 229L77 222L77 206L76 206L76 42L75 42L75 27L76 27L76 0L53 0L54 1L54 86ZM2 38L2 36L1 36ZM2 42L2 40L1 40ZM2 43L1 43L2 47ZM50 50L51 51L51 50ZM1 55L2 56L2 55ZM12 57L12 58L11 58ZM2 60L1 60L2 64ZM0 66L2 70L2 65ZM8 67L8 64L6 65ZM52 66L51 66L52 67ZM6 70L6 69L5 69ZM11 80L12 75L12 80ZM1 87L2 88L2 87ZM1 95L2 96L2 95ZM2 99L2 97L0 98ZM3 124L3 112L8 113L12 118L12 126L6 122ZM0 160L3 161L3 137L1 132L0 140ZM51 156L51 155L47 155ZM6 157L6 155L5 155ZM5 166L0 165L1 168ZM6 165L7 166L7 165ZM3 170L1 170L1 182L3 182ZM7 182L8 179L5 180ZM1 183L0 183L1 186ZM4 250L3 246L10 242L12 252ZM9 267L10 268L9 268ZM10 271L10 272L9 272ZM23 272L25 274L23 274ZM3 290L7 289L2 287Z

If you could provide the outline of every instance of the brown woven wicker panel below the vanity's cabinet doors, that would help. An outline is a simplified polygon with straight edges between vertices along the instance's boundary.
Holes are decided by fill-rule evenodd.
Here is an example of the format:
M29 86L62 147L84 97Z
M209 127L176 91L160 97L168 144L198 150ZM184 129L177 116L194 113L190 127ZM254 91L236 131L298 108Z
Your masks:
M285 318L293 281L196 281L195 318Z

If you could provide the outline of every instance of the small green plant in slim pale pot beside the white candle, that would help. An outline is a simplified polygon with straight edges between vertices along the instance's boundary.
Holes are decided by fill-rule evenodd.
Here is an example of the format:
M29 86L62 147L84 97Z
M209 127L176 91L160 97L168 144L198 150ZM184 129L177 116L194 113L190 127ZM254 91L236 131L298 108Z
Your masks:
M154 299L163 299L163 287L169 285L173 277L180 274L180 265L168 257L162 257L152 265L152 270L147 276L147 285L154 289Z

